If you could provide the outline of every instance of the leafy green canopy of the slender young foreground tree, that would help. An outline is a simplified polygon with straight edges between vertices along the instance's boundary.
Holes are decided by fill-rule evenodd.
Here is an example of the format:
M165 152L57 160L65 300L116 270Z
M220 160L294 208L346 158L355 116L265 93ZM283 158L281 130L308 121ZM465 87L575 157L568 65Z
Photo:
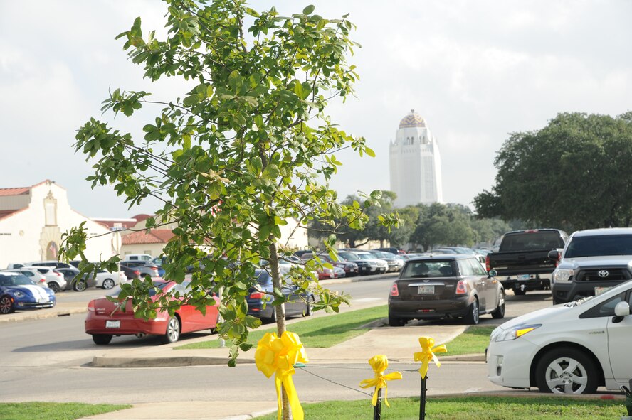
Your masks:
M353 25L346 16L322 18L314 6L292 16L274 8L259 13L242 0L167 0L167 6L166 39L153 31L143 38L140 18L117 38L144 66L145 77L181 77L191 89L173 100L114 90L104 112L132 117L152 106L157 116L140 139L90 119L78 131L75 150L98 157L88 178L93 187L114 185L130 206L149 196L162 201L147 228L176 226L164 247L165 277L184 281L185 267L194 266L186 298L200 310L212 302L209 290L223 292L219 331L232 340L234 365L238 349L252 345L248 328L260 324L247 315L246 296L261 259L273 276L278 333L285 331L278 271L285 219L338 218L354 229L367 222L359 207L338 204L327 184L341 164L339 149L374 156L364 138L342 131L325 112L332 98L353 93L357 74L346 55L357 44L349 39ZM67 259L80 255L83 271L93 268L83 256L86 239L78 227L65 235L63 249ZM328 237L325 244L335 241ZM112 257L101 265L116 262ZM315 309L337 311L348 296L310 286L315 264L294 269L291 281L301 291L313 287L320 296ZM122 285L119 298L130 298L145 318L159 308L174 311L178 301L163 296L154 302L150 289L149 279L135 280Z

